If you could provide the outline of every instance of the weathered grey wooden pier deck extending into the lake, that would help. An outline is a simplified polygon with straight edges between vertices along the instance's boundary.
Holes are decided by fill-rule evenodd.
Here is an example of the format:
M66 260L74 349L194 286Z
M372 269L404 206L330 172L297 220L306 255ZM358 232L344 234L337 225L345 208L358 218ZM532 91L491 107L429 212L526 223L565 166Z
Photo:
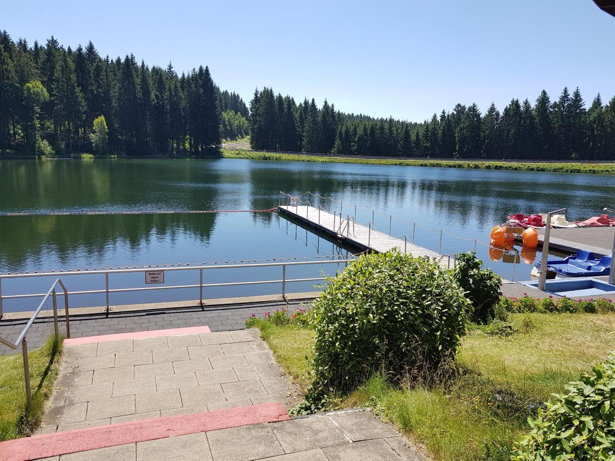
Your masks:
M410 239L391 237L373 227L370 229L369 225L354 223L352 219L348 223L347 219L343 218L340 223L339 216L306 205L280 205L278 209L281 215L292 216L293 219L308 227L337 238L341 240L341 243L347 243L361 251L372 250L384 253L384 251L397 247L402 253L412 254L415 258L419 256L437 258L443 266L453 266L452 256L448 257L448 255L439 254L423 246L414 245Z

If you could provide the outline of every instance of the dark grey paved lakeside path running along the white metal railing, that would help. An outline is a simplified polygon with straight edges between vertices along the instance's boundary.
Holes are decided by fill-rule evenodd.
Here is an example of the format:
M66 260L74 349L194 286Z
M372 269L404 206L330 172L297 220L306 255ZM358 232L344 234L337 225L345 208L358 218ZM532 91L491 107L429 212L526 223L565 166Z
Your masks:
M263 302L218 307L185 307L181 309L149 310L135 312L110 312L92 315L71 315L71 337L97 336L100 334L130 333L165 328L183 328L208 325L212 331L244 329L245 320L253 313L263 316L276 309L293 311L300 301ZM15 341L27 320L0 320L0 336ZM30 328L28 348L41 347L54 329L53 318L40 318ZM60 318L60 332L66 327ZM9 349L0 344L0 355L20 353L21 349Z

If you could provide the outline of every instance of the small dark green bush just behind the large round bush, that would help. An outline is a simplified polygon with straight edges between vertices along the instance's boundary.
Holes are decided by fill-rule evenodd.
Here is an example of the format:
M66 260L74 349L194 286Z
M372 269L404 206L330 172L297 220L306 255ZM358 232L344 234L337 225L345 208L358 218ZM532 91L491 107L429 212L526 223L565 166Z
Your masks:
M483 269L483 261L476 258L474 251L455 255L453 276L472 303L472 321L489 323L494 317L494 306L502 294L502 277L491 269Z

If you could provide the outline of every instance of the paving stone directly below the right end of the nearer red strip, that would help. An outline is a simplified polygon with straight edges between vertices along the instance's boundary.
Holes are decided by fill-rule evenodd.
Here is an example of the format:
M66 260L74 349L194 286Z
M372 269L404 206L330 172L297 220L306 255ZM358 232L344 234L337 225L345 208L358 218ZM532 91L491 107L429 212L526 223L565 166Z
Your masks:
M271 428L286 453L348 443L327 417L282 421Z

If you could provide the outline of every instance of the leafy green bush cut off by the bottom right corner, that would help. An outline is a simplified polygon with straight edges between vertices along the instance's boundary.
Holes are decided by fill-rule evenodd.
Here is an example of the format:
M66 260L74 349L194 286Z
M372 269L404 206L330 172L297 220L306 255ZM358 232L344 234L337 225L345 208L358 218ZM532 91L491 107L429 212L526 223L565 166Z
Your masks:
M614 351L615 352L615 351ZM615 355L554 394L515 446L514 461L615 459Z

